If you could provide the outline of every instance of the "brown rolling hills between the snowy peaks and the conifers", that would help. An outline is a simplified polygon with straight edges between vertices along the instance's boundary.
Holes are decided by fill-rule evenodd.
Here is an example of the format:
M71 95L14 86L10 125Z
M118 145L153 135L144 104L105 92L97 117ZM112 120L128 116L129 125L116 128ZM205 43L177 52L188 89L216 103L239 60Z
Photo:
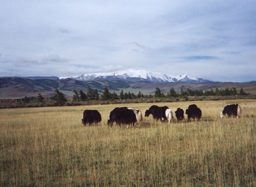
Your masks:
M133 92L137 94L139 91L143 94L154 94L155 88L159 87L161 92L167 93L173 87L176 92L180 92L181 88L208 90L218 88L244 88L246 93L256 93L256 81L251 82L206 82L206 83L154 83L154 82L129 82L129 81L79 81L74 79L25 79L25 78L0 78L0 99L16 99L24 96L37 96L41 93L44 97L50 97L55 94L54 90L58 88L66 96L72 96L73 90L87 91L87 88L98 89L99 94L103 92L104 87L108 87L110 92L115 91L117 94L124 90L124 92ZM248 88L248 89L246 89Z

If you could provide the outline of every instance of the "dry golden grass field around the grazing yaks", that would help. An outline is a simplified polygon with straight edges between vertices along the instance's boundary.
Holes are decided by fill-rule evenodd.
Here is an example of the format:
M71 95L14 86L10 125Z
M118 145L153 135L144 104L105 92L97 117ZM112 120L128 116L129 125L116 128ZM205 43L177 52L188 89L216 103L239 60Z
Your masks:
M242 117L221 119L231 103ZM144 115L153 103L0 109L0 186L256 186L256 100L156 103L173 111L190 104L201 108L200 121L150 115L128 129L109 128L110 111ZM82 126L85 109L102 122Z

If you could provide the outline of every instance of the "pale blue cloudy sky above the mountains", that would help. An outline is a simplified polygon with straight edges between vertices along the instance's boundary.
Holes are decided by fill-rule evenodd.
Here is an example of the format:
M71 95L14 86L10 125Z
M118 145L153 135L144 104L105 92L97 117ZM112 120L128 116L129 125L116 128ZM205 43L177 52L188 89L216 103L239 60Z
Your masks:
M0 0L0 76L128 68L256 80L254 0Z

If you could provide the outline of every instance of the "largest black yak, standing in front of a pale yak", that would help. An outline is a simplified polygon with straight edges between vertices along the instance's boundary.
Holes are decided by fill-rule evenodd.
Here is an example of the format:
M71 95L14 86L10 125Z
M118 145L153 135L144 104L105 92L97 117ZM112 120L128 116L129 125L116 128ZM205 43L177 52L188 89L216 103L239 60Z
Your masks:
M133 110L127 107L116 107L109 114L108 126L112 127L114 122L119 126L121 124L128 124L128 126L132 124L134 126L136 121L136 115Z

